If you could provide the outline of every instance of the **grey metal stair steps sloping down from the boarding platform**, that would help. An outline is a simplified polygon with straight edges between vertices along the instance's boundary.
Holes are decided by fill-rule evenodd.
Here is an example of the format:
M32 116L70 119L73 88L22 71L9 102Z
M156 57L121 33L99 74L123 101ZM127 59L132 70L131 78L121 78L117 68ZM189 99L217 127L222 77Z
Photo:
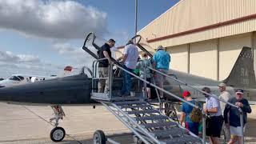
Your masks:
M202 143L145 100L102 102L125 126L144 143Z

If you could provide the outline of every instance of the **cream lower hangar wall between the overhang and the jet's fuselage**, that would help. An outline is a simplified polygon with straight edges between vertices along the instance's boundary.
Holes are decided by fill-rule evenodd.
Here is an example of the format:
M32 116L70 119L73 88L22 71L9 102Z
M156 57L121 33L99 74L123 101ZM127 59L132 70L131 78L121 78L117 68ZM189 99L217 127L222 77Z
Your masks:
M253 46L252 39L253 33L238 34L185 45L169 46L166 51L171 54L171 69L223 80L230 74L242 46ZM255 34L254 42L256 42Z

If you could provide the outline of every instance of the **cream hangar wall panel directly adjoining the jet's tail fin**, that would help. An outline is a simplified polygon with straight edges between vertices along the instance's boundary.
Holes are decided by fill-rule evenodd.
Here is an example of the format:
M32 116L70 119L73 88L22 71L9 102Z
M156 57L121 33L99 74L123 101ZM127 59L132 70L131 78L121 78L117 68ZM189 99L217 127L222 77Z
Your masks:
M251 34L239 34L219 39L219 79L230 74L243 46L251 47Z

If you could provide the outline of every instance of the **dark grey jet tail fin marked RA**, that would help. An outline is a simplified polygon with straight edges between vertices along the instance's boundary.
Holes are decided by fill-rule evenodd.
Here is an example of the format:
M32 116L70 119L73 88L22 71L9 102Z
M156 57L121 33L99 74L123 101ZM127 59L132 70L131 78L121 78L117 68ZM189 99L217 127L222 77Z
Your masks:
M256 87L252 49L244 46L230 75L223 81L227 86L240 88Z

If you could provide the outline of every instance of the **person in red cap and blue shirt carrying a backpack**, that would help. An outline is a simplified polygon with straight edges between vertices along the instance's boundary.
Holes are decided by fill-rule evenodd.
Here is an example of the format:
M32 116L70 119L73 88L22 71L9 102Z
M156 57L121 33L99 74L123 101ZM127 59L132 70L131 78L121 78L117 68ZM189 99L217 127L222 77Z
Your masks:
M182 93L183 98L187 102L191 102L195 105L196 101L192 99L190 91L185 90ZM190 106L186 102L182 103L182 113L179 119L179 122L182 123L185 122L185 127L187 130L190 130L192 133L198 135L198 127L199 127L199 122L192 122L190 119L190 114L193 110L193 106Z

